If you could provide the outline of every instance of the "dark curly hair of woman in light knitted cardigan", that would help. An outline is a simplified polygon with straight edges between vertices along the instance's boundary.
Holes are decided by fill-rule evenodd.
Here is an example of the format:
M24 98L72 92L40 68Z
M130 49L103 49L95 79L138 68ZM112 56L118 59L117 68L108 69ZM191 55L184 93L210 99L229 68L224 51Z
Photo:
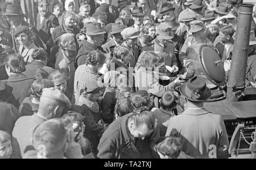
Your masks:
M89 52L86 58L86 64L97 65L97 63L104 64L106 56L101 51Z

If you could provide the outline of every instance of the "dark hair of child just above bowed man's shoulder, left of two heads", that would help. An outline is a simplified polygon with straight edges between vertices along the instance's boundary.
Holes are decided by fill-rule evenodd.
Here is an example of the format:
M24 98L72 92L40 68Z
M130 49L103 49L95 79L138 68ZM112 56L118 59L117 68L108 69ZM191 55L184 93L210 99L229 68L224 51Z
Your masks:
M133 105L131 105L131 100L127 97L119 98L115 104L115 113L119 117L133 113Z

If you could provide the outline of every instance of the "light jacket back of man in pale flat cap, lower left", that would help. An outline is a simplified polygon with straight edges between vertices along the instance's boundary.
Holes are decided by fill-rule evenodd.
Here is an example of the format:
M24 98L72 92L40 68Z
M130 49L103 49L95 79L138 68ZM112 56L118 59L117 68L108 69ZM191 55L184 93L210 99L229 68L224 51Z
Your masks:
M37 114L32 116L20 117L16 121L13 129L13 150L15 151L14 158L21 158L28 150L27 146L31 146L32 132L35 127L46 121Z

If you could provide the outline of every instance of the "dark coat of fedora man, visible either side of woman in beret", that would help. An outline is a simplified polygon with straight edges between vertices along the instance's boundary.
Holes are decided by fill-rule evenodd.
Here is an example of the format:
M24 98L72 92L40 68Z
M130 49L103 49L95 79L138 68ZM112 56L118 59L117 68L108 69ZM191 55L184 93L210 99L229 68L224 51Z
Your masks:
M42 40L40 39L38 30L36 30L36 28L34 26L32 26L31 24L28 24L26 21L22 20L22 23L20 26L27 26L28 28L30 28L30 31L32 32L32 35L34 36L34 43L36 45L36 47L42 47L42 48L46 48L45 44L42 42ZM15 28L11 28L10 30L10 34L11 34L11 38L13 39L13 49L16 53L19 52L19 42L18 40L15 38L14 36L14 32L15 32Z

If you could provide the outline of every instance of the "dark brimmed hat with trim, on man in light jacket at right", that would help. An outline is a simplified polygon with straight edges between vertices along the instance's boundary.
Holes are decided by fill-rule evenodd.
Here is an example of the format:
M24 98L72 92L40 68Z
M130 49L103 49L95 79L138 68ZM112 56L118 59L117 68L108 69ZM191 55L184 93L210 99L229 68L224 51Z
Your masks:
M212 96L203 78L195 76L180 86L180 93L193 102L203 102Z

